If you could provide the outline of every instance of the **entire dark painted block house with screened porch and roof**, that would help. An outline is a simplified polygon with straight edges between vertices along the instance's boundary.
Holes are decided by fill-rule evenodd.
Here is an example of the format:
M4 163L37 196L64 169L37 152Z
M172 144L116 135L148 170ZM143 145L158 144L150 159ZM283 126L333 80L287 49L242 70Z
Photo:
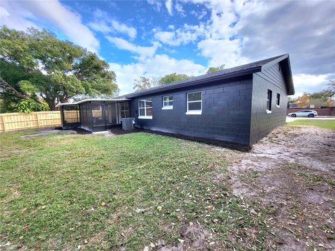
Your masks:
M91 131L105 130L131 116L139 128L251 145L285 123L288 95L294 93L285 54L112 100L58 106L64 122L64 111L77 106L75 126ZM82 112L82 104L89 112ZM89 127L82 126L82 114ZM66 123L63 126L67 128Z

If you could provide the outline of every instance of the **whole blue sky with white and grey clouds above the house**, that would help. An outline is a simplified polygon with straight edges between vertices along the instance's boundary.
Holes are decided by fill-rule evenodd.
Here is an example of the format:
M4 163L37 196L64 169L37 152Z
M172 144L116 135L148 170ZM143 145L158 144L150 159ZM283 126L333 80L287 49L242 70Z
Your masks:
M296 96L335 79L334 1L1 1L0 24L96 52L120 94L137 76L200 75L290 54Z

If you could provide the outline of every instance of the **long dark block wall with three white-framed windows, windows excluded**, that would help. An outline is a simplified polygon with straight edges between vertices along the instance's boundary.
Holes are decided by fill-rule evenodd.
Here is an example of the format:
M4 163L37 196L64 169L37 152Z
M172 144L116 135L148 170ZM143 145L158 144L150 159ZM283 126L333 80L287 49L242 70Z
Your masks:
M193 137L248 144L250 139L252 76L207 83L151 96L133 98L131 116L140 128ZM186 93L202 91L202 114L186 114ZM163 96L173 96L173 109L162 109ZM138 119L138 100L152 98L153 119ZM135 115L135 111L137 114Z

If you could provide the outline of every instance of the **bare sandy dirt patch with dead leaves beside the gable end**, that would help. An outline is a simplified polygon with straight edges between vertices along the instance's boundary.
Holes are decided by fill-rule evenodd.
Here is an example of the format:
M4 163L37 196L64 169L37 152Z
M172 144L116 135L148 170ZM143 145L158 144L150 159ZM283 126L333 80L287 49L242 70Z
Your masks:
M268 208L279 250L334 250L335 131L283 126L235 155L230 183Z

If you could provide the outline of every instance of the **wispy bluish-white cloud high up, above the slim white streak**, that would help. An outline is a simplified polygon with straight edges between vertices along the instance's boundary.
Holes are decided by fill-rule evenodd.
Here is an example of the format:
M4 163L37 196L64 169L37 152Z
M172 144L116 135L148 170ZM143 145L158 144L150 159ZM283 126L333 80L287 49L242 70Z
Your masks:
M108 13L103 10L97 9L93 13L94 21L89 22L89 26L94 31L102 33L123 33L134 39L137 36L137 31L134 27L128 26L110 17Z

